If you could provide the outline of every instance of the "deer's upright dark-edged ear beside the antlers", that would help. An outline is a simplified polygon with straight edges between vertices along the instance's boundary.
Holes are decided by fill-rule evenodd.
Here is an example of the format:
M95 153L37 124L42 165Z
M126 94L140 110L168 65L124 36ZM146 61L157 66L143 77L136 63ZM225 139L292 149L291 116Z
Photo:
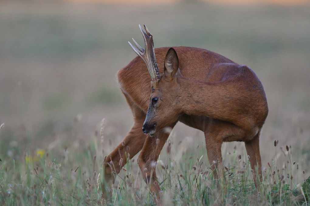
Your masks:
M174 48L170 48L165 57L164 74L166 77L174 77L179 68L179 58Z

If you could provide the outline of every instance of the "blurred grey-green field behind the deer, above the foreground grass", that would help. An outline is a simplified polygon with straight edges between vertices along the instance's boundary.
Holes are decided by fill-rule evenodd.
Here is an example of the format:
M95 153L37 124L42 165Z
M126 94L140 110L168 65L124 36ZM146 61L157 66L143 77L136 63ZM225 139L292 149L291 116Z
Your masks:
M308 0L1 1L1 158L85 146L102 118L112 151L133 123L115 75L136 56L127 41L143 44L145 23L155 47L205 48L252 68L269 104L263 165L279 140L309 173L309 11ZM188 149L204 145L202 132L178 123L171 140L184 137ZM236 144L225 143L224 156Z

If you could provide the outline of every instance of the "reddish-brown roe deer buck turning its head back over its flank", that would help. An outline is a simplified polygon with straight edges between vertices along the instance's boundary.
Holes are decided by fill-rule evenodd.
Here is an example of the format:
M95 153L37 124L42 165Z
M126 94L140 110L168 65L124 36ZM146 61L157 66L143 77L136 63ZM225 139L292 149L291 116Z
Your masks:
M178 121L204 132L212 169L216 168L214 162L222 160L223 142L244 141L251 168L255 173L258 165L261 175L259 134L268 106L254 72L201 48L154 49L152 34L145 25L145 31L139 27L145 49L134 40L136 47L131 47L139 57L117 73L135 122L122 143L106 158L105 179L113 180L113 170L120 171L118 166L111 166L118 165L120 158L126 164L125 152L132 158L142 149L139 167L151 192L159 192L154 162L169 136L164 128L173 128Z

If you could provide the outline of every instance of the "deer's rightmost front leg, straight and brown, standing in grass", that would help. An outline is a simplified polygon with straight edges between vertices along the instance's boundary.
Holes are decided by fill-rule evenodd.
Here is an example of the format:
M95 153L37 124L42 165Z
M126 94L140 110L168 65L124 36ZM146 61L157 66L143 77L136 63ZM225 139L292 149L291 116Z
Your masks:
M244 142L246 146L246 153L250 156L250 164L253 171L253 179L256 189L258 189L257 177L260 181L262 181L262 162L259 153L259 135L260 132L258 132L252 140ZM256 174L256 169L258 171L258 176Z

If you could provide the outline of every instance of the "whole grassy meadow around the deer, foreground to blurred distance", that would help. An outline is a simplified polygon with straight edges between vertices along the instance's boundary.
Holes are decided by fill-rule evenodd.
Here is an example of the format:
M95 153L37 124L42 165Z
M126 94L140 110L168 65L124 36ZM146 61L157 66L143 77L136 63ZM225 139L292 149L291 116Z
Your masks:
M259 192L244 143L223 144L225 178L213 179L203 133L178 123L156 165L163 204L309 205L309 9L0 2L0 204L155 204L137 156L101 195L104 157L133 123L115 74L145 23L155 47L206 48L252 68L269 106Z

